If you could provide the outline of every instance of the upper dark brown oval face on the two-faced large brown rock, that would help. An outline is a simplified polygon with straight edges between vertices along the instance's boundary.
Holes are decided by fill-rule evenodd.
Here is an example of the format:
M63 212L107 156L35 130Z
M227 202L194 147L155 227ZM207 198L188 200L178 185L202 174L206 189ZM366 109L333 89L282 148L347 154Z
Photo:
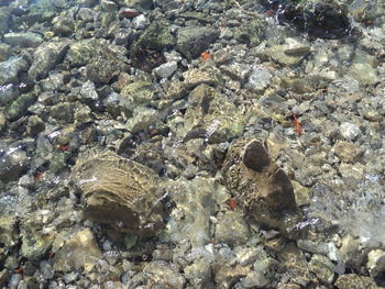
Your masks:
M246 145L243 155L243 164L255 171L262 171L270 165L270 156L261 142L252 141Z

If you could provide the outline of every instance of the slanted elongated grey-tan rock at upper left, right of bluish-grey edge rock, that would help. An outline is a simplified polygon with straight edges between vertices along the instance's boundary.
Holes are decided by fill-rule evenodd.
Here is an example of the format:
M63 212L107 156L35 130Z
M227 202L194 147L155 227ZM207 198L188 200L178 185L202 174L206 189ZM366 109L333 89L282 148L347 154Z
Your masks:
M50 42L41 44L33 54L33 63L29 76L33 80L45 78L48 71L63 62L68 49L67 42Z

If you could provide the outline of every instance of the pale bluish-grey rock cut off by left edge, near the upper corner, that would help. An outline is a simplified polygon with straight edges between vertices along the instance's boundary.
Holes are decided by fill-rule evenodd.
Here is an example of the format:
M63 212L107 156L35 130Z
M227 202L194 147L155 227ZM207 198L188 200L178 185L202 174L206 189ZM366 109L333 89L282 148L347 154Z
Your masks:
M13 56L6 62L0 63L0 86L9 82L18 82L18 75L26 71L29 64L23 57Z

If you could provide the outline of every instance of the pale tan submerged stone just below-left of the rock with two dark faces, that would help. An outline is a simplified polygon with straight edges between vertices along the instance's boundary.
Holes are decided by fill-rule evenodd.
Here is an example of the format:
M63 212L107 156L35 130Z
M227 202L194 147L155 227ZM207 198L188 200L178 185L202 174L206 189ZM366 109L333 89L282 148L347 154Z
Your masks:
M240 211L228 211L216 226L216 241L230 246L244 244L250 236L249 227Z

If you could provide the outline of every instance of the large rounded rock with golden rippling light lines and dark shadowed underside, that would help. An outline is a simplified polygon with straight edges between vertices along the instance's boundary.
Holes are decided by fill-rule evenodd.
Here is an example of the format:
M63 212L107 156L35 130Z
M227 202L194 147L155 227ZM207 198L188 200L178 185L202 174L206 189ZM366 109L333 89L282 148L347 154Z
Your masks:
M111 151L79 155L70 180L82 192L85 218L151 236L163 226L160 177L148 167Z

